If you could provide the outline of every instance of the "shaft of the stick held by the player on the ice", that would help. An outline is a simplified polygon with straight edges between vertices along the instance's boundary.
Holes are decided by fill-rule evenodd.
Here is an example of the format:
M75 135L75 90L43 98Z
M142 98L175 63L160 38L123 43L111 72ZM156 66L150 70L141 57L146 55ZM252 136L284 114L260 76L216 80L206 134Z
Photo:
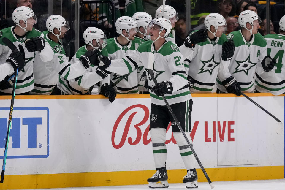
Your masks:
M148 69L148 72L149 72L149 75L151 75L151 79L153 80L154 84L157 85L156 78L155 78L154 75L153 75L153 70L152 70L152 69ZM170 107L170 105L169 105L169 103L167 102L167 100L166 100L166 98L164 97L164 95L162 95L162 99L164 100L164 102L165 102L165 104L166 104L166 106L167 106L167 108L168 108L170 114L171 114L172 117L174 118L174 121L175 121L176 124L178 125L178 127L179 127L181 133L183 134L185 140L187 141L187 143L188 143L188 145L189 145L189 147L190 147L190 149L191 149L191 151L192 151L192 153L193 153L193 155L194 155L196 161L198 162L199 166L201 167L201 170L203 171L203 173L204 173L204 175L205 175L207 181L209 182L211 188L213 188L214 186L211 184L212 182L211 182L211 180L210 180L210 178L209 178L209 176L208 176L208 174L207 174L205 168L203 167L202 163L200 162L200 159L198 158L196 152L194 151L193 145L190 143L189 139L187 138L185 132L183 131L183 129L182 129L182 127L181 127L181 125L180 125L180 123L179 123L179 121L178 121L178 119L177 119L176 116L175 116L175 113L173 112L172 108Z

